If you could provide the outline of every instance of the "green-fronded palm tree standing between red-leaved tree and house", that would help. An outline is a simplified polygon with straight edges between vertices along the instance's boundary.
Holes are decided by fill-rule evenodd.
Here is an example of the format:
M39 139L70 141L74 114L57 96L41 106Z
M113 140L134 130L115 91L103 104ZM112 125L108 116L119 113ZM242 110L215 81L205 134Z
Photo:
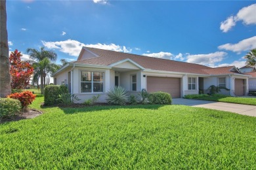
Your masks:
M33 61L35 61L33 63L33 66L35 70L37 70L37 72L35 72L33 79L36 79L35 76L37 76L37 78L39 78L38 76L40 76L40 89L41 93L44 93L44 87L46 83L45 77L48 74L47 68L51 64L51 61L56 61L57 54L52 50L45 50L44 46L40 48L40 51L35 48L28 48L27 53L30 55L30 59L33 59Z

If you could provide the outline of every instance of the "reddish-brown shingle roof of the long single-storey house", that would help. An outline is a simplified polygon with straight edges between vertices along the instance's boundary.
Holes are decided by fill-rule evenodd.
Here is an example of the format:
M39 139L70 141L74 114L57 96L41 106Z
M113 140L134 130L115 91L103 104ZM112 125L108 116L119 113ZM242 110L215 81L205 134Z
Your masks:
M186 63L182 61L173 61L170 59L152 58L148 56L140 56L136 54L128 54L123 52L115 52L111 50L102 50L98 48L85 47L87 50L93 52L99 57L81 59L73 63L85 63L92 65L111 65L123 59L131 59L144 67L145 69L152 69L158 71L172 71L179 73L195 73L202 75L221 75L234 73L230 71L234 66L211 68L205 65L195 63Z

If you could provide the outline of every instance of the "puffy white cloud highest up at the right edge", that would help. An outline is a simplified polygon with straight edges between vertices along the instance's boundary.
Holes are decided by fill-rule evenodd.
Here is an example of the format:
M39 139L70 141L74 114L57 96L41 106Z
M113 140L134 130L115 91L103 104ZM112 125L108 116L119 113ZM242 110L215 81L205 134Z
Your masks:
M238 11L236 16L230 16L224 22L221 22L220 29L226 33L228 32L236 22L242 21L245 25L256 24L256 4L244 7Z

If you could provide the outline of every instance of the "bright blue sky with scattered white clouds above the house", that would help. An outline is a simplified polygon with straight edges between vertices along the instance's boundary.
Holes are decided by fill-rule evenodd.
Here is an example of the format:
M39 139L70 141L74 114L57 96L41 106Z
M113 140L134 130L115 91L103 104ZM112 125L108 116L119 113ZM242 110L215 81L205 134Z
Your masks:
M9 48L47 46L74 61L82 46L211 67L245 65L256 48L255 1L12 1Z

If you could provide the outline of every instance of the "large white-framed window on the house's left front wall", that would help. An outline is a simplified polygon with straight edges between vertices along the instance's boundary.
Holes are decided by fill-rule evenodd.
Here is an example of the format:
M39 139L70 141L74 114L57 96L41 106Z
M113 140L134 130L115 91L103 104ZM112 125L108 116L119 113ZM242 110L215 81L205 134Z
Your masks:
M81 71L81 93L103 92L104 73Z

